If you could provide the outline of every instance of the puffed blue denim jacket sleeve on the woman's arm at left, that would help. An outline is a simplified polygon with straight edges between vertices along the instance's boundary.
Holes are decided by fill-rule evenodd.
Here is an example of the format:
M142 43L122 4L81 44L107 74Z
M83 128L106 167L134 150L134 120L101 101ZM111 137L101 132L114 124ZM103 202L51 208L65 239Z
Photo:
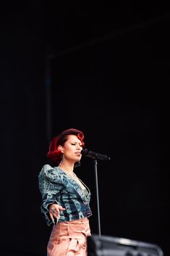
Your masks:
M52 220L49 216L48 206L56 203L56 196L61 191L63 183L57 172L50 165L44 165L38 175L39 190L41 191L42 205L41 212L46 218L48 226L51 226Z

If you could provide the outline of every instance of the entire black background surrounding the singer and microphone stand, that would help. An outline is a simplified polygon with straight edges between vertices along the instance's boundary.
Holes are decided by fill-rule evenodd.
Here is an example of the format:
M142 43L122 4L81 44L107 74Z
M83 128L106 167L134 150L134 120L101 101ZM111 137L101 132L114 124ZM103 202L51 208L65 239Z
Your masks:
M98 160L101 234L169 256L169 5L27 1L1 6L1 251L46 255L38 173L51 138L85 133ZM93 160L75 169L92 192Z

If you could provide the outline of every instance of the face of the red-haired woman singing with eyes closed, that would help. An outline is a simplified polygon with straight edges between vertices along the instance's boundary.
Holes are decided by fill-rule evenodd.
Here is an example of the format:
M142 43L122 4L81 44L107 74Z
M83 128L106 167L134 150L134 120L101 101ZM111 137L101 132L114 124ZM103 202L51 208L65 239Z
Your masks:
M82 154L82 142L76 135L68 135L67 141L62 146L62 152L64 154L64 160L72 162L80 161Z

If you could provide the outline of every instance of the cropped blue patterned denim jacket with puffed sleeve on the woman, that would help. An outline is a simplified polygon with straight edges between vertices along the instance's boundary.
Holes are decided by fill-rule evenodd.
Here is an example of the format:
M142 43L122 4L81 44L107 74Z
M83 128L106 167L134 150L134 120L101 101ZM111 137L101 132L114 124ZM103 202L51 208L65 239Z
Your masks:
M38 175L39 189L41 191L42 205L41 212L46 218L48 226L51 226L52 220L49 216L48 206L56 203L66 210L60 212L60 221L77 220L90 217L90 190L87 197L81 186L70 176L64 173L61 168L44 165Z

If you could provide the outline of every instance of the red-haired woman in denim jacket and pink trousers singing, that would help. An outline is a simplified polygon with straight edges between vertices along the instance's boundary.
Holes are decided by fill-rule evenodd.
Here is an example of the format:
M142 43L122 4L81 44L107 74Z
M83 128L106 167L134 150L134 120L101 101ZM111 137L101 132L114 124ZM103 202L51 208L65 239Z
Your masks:
M90 234L90 190L74 173L80 165L85 146L84 134L67 129L52 139L47 157L53 162L44 165L38 176L42 195L41 212L52 226L47 245L48 256L87 256Z

